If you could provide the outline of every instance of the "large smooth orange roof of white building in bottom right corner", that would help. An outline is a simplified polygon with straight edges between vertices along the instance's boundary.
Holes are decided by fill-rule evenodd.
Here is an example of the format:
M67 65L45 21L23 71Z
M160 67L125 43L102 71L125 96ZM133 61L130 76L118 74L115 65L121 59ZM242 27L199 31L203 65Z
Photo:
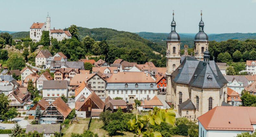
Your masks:
M217 106L197 119L206 130L254 131L256 107Z

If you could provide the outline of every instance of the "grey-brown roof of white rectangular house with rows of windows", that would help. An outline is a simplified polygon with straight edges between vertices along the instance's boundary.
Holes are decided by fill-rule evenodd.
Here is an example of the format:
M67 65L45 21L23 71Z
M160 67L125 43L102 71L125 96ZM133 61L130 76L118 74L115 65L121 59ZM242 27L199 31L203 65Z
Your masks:
M44 80L42 89L67 89L67 80Z

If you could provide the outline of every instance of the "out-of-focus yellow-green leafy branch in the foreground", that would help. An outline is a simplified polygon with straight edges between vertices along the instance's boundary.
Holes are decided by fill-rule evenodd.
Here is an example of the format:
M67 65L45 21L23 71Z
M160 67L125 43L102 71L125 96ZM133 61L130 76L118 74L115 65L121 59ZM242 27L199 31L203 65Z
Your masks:
M157 107L154 108L148 115L144 115L139 117L136 115L136 118L130 120L127 125L129 130L134 131L136 135L141 134L141 130L143 127L149 122L151 125L160 126L161 122L166 122L170 124L174 124L175 121L175 113L172 109L159 109ZM136 135L134 137L136 137ZM142 137L162 137L160 132L153 131L152 129L148 129L143 132Z

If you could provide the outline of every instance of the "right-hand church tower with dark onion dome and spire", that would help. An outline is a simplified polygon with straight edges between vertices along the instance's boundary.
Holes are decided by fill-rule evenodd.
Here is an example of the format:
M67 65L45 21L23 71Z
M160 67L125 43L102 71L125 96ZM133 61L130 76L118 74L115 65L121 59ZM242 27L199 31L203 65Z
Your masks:
M194 40L194 57L197 60L204 59L204 52L208 48L208 36L204 33L204 22L202 20L202 11L201 11L201 21L199 22L199 32L195 35Z

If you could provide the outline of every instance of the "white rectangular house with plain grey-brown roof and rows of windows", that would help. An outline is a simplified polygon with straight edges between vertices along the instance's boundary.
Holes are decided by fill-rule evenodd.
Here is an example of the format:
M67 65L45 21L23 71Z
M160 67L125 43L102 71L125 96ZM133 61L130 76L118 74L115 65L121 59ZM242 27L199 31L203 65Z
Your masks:
M68 97L68 83L67 80L45 80L43 81L42 95L43 98L52 102L60 96Z

